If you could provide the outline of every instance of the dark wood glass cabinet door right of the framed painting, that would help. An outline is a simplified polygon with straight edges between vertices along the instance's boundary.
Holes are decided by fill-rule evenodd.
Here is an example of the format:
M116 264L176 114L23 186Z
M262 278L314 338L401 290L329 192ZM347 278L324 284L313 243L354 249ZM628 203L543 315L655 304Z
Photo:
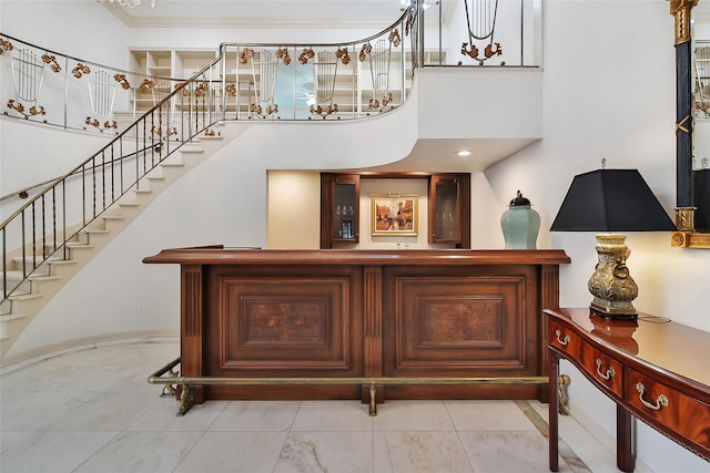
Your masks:
M429 243L470 248L467 175L433 175L429 183Z

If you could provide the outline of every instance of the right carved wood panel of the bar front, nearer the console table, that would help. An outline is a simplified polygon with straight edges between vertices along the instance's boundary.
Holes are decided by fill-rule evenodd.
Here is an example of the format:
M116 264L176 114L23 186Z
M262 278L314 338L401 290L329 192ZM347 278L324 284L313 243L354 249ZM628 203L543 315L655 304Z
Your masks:
M388 267L383 307L384 374L540 376L542 329L534 266ZM393 385L388 398L537 398L535 385Z

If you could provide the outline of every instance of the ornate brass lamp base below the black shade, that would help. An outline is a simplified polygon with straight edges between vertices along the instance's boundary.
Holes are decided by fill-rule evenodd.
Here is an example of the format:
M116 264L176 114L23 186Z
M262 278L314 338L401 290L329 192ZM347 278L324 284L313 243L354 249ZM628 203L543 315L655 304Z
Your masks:
M625 240L626 235L597 235L599 261L587 287L595 296L591 311L608 319L635 320L638 317L631 302L638 296L639 288L626 266L630 250Z

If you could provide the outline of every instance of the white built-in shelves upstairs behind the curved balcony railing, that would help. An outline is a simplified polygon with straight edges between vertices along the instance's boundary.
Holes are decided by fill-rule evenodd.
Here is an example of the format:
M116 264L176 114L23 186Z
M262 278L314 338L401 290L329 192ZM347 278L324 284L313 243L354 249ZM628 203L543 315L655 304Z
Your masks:
M288 64L275 59L275 51L254 48L254 53L247 61L241 58L242 52L243 49L227 51L224 70L215 68L214 70L220 72L209 78L215 82L215 90L221 90L220 82L223 79L226 81L227 86L232 89L225 100L226 111L231 114L236 113L240 119L256 117L252 104L266 109L273 103L278 105L281 113L288 113L293 107L303 109L303 113L296 115L311 120L374 114L399 106L412 88L412 78L403 73L410 70L408 55L405 54L403 58L403 47L392 49L388 66L385 68L379 61L359 61L358 52L353 49L348 51L351 61L347 64L338 62L337 68L335 64L326 68L316 60L302 64L293 48ZM293 56L294 54L296 56ZM149 110L161 99L160 94L140 89L143 79L150 79L172 91L179 82L190 79L217 58L219 51L132 49L129 56L130 70L138 73L138 76L131 78L130 81L133 91L130 109L139 112ZM438 63L440 54L429 51L426 52L426 63L435 64ZM261 83L262 79L267 76L275 83ZM379 91L373 91L373 83L376 81L382 81L381 86L376 88ZM301 96L294 97L294 90L297 90ZM311 96L307 103L306 95ZM314 99L315 107L320 106L321 113L310 111L310 104ZM335 107L337 111L333 111Z

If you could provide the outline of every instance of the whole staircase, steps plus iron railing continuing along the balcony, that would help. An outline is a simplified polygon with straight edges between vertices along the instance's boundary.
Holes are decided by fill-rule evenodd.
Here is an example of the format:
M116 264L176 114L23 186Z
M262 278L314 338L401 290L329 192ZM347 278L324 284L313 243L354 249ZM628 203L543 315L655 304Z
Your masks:
M68 65L48 68L44 71L44 65L38 61L37 68L42 68L48 75L45 82L53 82L57 90L61 89L59 84L68 81L85 80L89 70L93 74L102 73L104 78L112 78L120 85L116 86L106 79L104 85L109 90L114 88L123 91L119 93L132 93L133 122L119 126L110 120L104 122L87 117L85 123L80 125L82 131L91 132L91 126L94 126L93 131L115 134L115 137L64 176L52 181L40 194L27 199L1 223L0 367L19 361L12 359L14 354L7 356L12 345L51 297L87 261L126 228L163 189L241 132L253 126L253 123L318 123L368 119L404 104L410 91L414 68L417 66L415 59L418 58L410 52L412 60L405 61L407 54L404 44L409 43L410 48L415 48L414 41L399 44L399 31L412 31L412 37L416 37L414 31L418 17L409 14L412 8L408 7L387 29L359 41L312 44L307 49L302 44L222 43L214 61L187 80L148 78L142 73L110 69L87 61L80 62L74 70ZM374 99L367 102L369 94L363 93L361 81L355 81L354 78L355 71L361 69L363 74L376 72L375 69L371 71L373 64L379 64L372 60L371 42L375 43L379 39L386 39L383 41L388 44L388 50L399 48L400 52L397 54L387 54L389 61L399 68L397 78L392 78L398 92L394 94L397 97L393 101L392 93L378 91L385 95L382 106L375 106ZM38 58L60 58L60 62L63 58L64 63L72 65L77 61L8 35L3 35L2 43L9 52L7 56L17 49L29 51ZM343 90L343 100L348 103L341 103L342 111L334 104L325 109L318 104L307 107L307 103L296 104L295 99L284 96L283 110L280 111L275 103L275 71L280 65L285 68L296 64L292 56L298 58L297 63L305 66L311 61L308 58L314 58L316 52L322 51L339 53L341 55L336 54L337 58L343 52L346 53L339 60L342 78L333 74L328 86L331 90L335 88L336 79L346 83L349 89ZM357 63L351 63L351 55L362 64L356 68ZM265 58L276 58L278 61L264 63ZM349 69L346 68L348 64ZM311 69L306 71L311 71L311 74L317 71L313 61L308 66ZM246 79L242 78L244 71L251 71ZM308 72L304 73L308 75ZM294 73L291 79L285 74L286 81L292 81L293 84L284 83L284 91L301 91L302 84L298 81L304 73ZM30 76L28 80L32 79ZM152 88L163 81L169 84L166 95L151 93ZM40 84L37 83L36 86L39 88ZM282 92L285 93L284 91ZM151 96L151 101L145 102L145 96ZM385 96L388 99L385 100ZM64 130L80 130L77 127L77 117L69 113L70 110L73 112L75 104L69 106L67 94L61 100L63 113L53 116L63 116L62 123L48 122L43 115L37 115L37 110L42 107L30 109L30 103L20 103L26 101L21 94L11 100L10 103L14 106L4 116L37 125L47 123ZM141 105L136 109L139 103ZM80 121L83 123L83 117Z

